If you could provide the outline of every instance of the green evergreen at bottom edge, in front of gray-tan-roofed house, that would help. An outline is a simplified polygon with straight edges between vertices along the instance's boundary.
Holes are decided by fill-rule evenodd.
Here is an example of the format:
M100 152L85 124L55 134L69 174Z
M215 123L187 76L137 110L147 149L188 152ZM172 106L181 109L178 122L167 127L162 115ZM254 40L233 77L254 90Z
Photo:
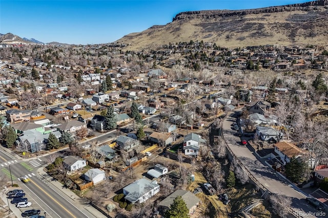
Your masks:
M183 201L181 196L176 197L173 203L165 213L166 218L188 218L189 210L187 204Z

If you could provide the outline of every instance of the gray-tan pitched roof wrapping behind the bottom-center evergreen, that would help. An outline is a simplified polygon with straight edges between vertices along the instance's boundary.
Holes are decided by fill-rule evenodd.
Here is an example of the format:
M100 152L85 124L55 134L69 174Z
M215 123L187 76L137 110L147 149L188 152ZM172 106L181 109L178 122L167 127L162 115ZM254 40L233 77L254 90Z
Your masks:
M172 194L170 194L166 199L159 202L158 206L170 208L174 199L176 199L176 197L178 196L181 196L183 201L186 202L188 210L190 210L193 206L195 206L198 202L200 202L200 200L190 191L178 189Z

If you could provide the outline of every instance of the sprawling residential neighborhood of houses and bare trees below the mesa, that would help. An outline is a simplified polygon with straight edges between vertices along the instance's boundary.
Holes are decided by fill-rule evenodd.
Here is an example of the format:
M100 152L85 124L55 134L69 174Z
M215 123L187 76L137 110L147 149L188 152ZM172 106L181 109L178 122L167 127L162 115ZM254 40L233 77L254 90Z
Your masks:
M254 199L253 217L261 208L271 217L295 205L262 201L294 192L303 193L302 211L304 196L326 208L327 49L6 46L3 147L22 163L43 161L45 175L108 217L166 217L178 201L188 217L228 217ZM77 51L86 55L69 55ZM252 176L247 161L256 160L290 184L286 196Z

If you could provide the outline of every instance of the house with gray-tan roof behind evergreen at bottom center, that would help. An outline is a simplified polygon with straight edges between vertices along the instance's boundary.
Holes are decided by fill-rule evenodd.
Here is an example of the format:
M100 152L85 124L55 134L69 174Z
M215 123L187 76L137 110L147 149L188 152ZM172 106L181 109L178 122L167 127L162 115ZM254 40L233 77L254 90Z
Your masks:
M181 196L183 201L185 201L187 208L189 210L189 215L192 215L196 211L200 199L198 199L190 191L178 189L174 191L172 194L170 194L166 199L159 202L158 207L159 207L160 214L165 214L165 212L171 208L174 199L176 199L176 197L178 196Z

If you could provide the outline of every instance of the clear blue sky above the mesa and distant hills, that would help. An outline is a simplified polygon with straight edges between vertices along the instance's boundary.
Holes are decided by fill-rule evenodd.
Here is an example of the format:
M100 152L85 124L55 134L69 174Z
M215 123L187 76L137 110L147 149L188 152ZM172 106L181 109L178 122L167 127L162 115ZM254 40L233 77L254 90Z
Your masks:
M0 33L43 42L75 44L113 42L153 25L165 25L179 12L251 9L303 3L302 0L0 0Z

